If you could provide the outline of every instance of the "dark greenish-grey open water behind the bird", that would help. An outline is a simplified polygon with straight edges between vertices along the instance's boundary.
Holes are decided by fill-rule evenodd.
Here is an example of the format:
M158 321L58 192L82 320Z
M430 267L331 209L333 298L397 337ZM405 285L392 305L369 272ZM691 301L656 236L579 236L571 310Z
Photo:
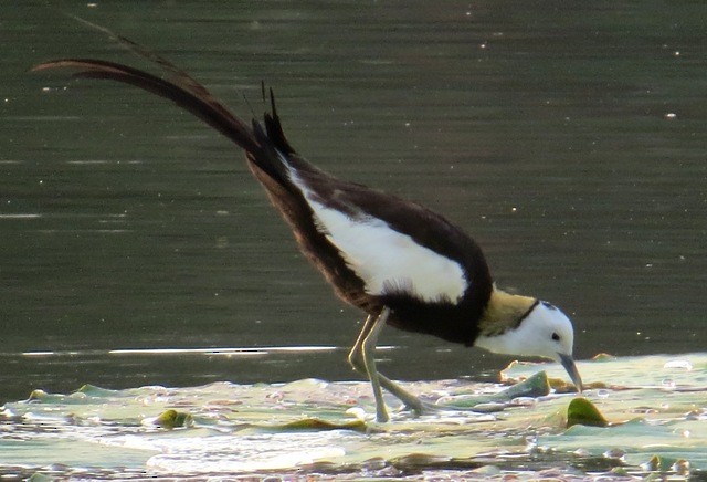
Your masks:
M22 2L0 7L0 399L355 377L361 315L238 149L128 86L27 73L64 56L148 66L65 13L168 56L240 115L263 109L266 81L300 153L463 226L500 285L571 315L579 358L705 350L707 4ZM508 360L393 329L382 344L402 379ZM334 349L108 353L262 346Z

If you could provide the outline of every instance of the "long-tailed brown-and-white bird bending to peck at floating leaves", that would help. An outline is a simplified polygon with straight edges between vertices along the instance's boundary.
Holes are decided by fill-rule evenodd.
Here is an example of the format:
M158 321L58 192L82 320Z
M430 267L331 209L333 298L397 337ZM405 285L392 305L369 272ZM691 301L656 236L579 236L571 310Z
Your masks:
M378 422L390 419L383 389L415 413L431 408L378 370L376 346L387 325L492 353L558 362L581 392L571 321L550 303L499 289L481 247L462 228L421 203L339 179L307 161L285 137L275 95L264 83L265 112L245 122L187 72L120 40L167 72L155 75L81 57L48 61L32 71L67 69L74 77L139 87L190 112L244 151L302 253L339 298L366 315L348 362L370 380Z

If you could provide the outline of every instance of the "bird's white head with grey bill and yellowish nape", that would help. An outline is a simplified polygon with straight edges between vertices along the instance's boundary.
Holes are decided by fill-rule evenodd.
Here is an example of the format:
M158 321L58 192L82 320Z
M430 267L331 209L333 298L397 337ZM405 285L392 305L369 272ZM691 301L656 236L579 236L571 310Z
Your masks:
M494 353L559 362L581 391L582 380L572 359L574 329L564 313L549 303L507 293L492 296L489 303L506 305L503 310L495 310L507 317L487 321L482 326L476 346ZM523 313L519 311L521 306L527 306Z

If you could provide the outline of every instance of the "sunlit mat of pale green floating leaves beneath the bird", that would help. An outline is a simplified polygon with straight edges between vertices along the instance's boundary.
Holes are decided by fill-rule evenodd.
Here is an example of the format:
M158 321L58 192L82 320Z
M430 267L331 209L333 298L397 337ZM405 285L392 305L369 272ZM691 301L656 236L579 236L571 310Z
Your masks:
M609 427L566 428L576 396L504 398L493 384L437 380L408 388L439 412L395 411L376 423L363 383L214 383L70 395L38 391L0 416L0 472L52 476L679 478L707 471L707 356L584 362L584 397ZM516 365L523 379L558 366ZM646 376L646 374L650 374ZM603 387L602 387L603 386ZM489 399L496 401L492 402ZM476 410L458 409L483 399ZM388 399L395 407L393 399ZM456 406L457 409L453 409ZM182 415L160 418L168 410Z

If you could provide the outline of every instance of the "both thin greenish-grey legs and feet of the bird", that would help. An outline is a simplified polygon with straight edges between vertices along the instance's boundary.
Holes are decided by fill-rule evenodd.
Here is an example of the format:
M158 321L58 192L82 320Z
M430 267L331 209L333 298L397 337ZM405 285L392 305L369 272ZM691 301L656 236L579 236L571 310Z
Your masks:
M414 395L405 391L388 377L381 375L376 369L374 350L378 343L378 335L386 325L390 308L383 307L378 316L369 315L363 323L363 328L359 334L351 353L349 353L349 363L355 370L366 373L373 387L373 396L376 397L376 412L378 421L387 421L388 413L383 404L380 388L390 391L394 397L402 401L405 407L422 413L422 402Z

